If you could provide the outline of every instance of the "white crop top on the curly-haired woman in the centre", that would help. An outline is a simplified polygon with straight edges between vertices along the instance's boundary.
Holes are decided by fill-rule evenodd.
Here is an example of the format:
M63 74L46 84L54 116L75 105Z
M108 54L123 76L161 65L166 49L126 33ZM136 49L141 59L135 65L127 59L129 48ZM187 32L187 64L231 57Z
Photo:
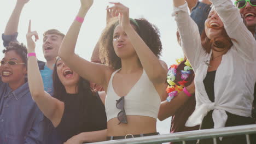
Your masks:
M120 70L120 69L119 69ZM117 117L121 111L117 109L116 103L120 97L115 93L112 80L119 70L114 71L108 83L105 108L107 121ZM141 78L131 88L130 92L124 97L124 109L126 115L148 116L158 118L158 111L161 104L160 96L153 83L149 80L146 71L143 69Z

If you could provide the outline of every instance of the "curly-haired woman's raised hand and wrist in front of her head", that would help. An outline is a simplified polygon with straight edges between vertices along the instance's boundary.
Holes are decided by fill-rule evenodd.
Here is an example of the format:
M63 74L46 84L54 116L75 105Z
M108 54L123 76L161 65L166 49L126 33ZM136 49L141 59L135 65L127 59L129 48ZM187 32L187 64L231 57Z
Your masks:
M129 8L125 7L121 3L112 3L112 4L114 4L114 6L111 8L108 8L110 11L112 11L112 17L119 16L119 23L124 30L130 27L131 23L130 23L130 17L129 17Z

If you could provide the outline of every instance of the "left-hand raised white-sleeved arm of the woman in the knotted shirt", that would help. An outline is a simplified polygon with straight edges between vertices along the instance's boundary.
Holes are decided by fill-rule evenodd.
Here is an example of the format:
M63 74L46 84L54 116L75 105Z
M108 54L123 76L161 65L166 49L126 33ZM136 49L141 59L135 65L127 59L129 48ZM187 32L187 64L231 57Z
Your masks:
M189 16L187 3L184 0L173 0L173 4L172 15L175 16L183 52L196 71L200 58L205 55L199 29Z

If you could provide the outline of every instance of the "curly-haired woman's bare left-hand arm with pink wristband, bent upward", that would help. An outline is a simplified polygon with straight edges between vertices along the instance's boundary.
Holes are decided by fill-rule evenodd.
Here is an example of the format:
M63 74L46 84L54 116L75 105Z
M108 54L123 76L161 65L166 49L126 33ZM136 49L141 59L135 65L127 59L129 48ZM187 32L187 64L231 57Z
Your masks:
M80 0L81 7L77 14L77 17L80 19L84 19L86 13L90 9L93 0ZM107 87L107 79L106 75L110 75L112 70L108 68L106 65L92 63L86 61L85 59L79 57L74 53L75 44L77 43L78 34L80 28L82 26L82 22L74 20L71 27L62 41L59 50L59 56L65 64L73 69L76 73L82 76L84 79L89 80L90 82L97 83L104 87Z

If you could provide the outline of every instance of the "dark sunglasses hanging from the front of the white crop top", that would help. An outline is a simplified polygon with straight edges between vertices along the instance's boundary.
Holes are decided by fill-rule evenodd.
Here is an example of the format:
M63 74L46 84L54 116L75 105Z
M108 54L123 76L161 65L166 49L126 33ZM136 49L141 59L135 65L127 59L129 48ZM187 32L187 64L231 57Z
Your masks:
M119 124L120 123L127 123L127 118L126 118L126 113L124 110L124 97L121 97L119 100L117 100L117 109L121 110L118 113L118 120L119 120Z

